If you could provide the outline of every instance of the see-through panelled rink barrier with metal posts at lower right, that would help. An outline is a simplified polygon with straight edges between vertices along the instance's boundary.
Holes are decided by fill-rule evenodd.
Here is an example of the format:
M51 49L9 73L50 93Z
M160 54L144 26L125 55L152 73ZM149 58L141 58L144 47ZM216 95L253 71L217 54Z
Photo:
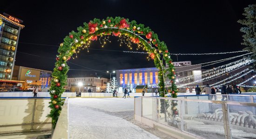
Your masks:
M178 130L176 137L256 138L256 103L250 102L136 97L135 120L148 126L153 122L151 126L172 135Z

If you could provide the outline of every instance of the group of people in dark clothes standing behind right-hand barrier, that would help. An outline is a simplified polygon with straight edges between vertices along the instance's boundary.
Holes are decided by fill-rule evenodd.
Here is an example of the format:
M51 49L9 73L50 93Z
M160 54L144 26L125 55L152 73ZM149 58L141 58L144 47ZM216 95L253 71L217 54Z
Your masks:
M222 86L222 101L227 100L227 96L229 94L241 94L241 90L236 86L236 85L228 85L225 84ZM209 95L209 94L216 94L216 89L214 88L214 86L209 86L209 84L206 84L206 86L203 88L203 90L201 91L201 88L199 88L198 85L196 85L195 88L195 93L196 95L202 95L202 92L205 92L205 95ZM226 95L225 95L226 94ZM216 95L211 95L211 100L214 97L214 100L217 100Z

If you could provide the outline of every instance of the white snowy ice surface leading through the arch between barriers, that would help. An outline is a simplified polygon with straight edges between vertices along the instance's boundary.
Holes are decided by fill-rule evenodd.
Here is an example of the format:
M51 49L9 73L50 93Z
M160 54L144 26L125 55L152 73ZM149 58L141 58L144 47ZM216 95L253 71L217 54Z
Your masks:
M70 139L159 139L128 121L134 98L70 98L68 103Z

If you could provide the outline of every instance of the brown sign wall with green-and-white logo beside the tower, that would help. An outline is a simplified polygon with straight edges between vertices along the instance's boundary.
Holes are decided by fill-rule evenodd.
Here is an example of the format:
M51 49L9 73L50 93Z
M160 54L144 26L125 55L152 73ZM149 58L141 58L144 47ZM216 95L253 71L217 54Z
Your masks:
M40 70L22 68L20 72L20 80L39 80Z

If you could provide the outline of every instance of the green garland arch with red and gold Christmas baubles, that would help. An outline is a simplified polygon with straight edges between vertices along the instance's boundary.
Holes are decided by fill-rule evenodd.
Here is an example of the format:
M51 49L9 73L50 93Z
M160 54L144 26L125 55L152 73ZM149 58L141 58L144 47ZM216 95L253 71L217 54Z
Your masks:
M53 71L53 80L50 88L51 108L48 117L52 118L53 128L61 113L61 94L65 91L64 87L67 84L67 61L76 55L81 49L88 49L90 43L99 38L103 38L102 47L108 40L109 35L120 37L121 41L126 43L128 47L131 44L137 44L138 49L142 48L148 52L148 58L154 60L155 67L159 69L159 91L160 96L166 97L167 88L165 79L168 77L171 85L168 89L171 90L172 97L177 97L177 88L175 85L175 71L170 53L166 44L158 39L158 36L149 27L144 27L143 24L137 24L136 21L129 22L128 19L120 17L108 17L107 19L94 19L89 23L84 23L83 26L77 28L77 32L70 32L69 36L64 38L64 42L60 44L58 49L59 55L56 57L55 68ZM100 39L101 41L101 39ZM162 57L161 57L162 56ZM168 68L165 68L165 62Z

